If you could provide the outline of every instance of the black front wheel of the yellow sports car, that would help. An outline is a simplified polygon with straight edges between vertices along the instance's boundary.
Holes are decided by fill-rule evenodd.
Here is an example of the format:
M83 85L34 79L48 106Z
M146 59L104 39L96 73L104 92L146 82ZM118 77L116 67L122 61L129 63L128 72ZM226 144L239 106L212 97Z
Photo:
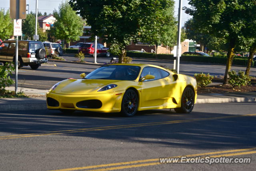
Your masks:
M122 104L121 104L121 113L124 116L131 117L135 115L138 109L138 95L132 90L128 89L124 93Z

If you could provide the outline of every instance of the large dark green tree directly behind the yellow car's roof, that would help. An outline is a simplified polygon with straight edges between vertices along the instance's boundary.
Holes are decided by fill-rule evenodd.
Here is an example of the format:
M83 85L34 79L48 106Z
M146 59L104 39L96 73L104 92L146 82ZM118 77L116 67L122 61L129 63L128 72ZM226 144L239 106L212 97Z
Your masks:
M70 0L70 5L91 26L93 35L105 38L119 54L126 56L130 41L158 42L158 26L162 27L164 11L173 0ZM166 14L167 15L167 14ZM149 38L150 35L152 38Z

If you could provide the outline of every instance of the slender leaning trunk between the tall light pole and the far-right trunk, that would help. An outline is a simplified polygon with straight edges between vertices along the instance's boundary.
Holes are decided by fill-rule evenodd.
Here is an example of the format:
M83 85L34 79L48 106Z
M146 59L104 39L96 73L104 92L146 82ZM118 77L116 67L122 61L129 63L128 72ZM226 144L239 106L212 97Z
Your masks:
M230 72L230 70L231 70L232 61L233 61L233 58L234 58L235 45L236 45L236 39L231 38L230 43L229 43L229 47L228 47L228 59L227 59L223 84L228 84L228 80L229 80L228 72Z

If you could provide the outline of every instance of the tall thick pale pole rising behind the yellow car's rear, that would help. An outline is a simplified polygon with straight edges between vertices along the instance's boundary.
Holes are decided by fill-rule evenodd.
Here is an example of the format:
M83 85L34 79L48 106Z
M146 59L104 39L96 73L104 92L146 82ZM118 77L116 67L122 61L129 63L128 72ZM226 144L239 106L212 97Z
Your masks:
M180 46L180 34L181 34L181 12L182 12L182 0L179 1L179 13L178 13L178 38L177 38L177 50L176 50L176 71L179 74L180 70L180 51L181 51L181 46Z

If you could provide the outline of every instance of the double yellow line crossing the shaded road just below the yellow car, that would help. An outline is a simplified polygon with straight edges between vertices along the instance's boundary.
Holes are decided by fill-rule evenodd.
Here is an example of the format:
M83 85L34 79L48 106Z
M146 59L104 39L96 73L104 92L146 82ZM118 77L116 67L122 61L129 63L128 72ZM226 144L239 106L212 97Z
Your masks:
M186 120L176 120L176 121L138 123L138 124L130 124L130 125L115 125L115 126L106 126L106 127L94 127L94 128L92 127L92 128L83 128L83 129L70 129L70 130L63 130L63 131L50 131L50 132L44 132L44 133L4 135L4 136L0 136L0 139L15 139L15 138L25 138L25 137L38 137L38 136L45 136L45 135L59 135L59 134L62 134L62 133L103 131L103 130L108 130L108 129L122 129L122 128L143 127L143 126L153 126L153 125L164 125L164 124L173 124L173 123L186 123L186 122L192 122L192 121L204 121L204 120L213 120L213 119L226 119L226 118L255 116L255 115L256 114L233 115L233 116L222 116L222 117L208 117L208 118L201 118L201 119L186 119Z

